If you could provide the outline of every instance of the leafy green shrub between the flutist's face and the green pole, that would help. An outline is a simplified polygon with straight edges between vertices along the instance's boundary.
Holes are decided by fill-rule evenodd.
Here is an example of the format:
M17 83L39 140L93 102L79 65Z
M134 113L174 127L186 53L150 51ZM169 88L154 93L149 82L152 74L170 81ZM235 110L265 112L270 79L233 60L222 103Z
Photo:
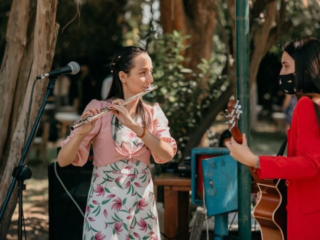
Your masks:
M154 84L159 87L149 94L148 99L161 104L178 144L178 159L206 111L229 83L221 75L226 57L218 49L210 59L202 59L198 64L200 73L183 67L185 59L181 53L188 47L183 43L187 38L189 36L182 36L181 32L174 30L152 39L147 49L154 68ZM202 84L203 79L207 79L207 84Z

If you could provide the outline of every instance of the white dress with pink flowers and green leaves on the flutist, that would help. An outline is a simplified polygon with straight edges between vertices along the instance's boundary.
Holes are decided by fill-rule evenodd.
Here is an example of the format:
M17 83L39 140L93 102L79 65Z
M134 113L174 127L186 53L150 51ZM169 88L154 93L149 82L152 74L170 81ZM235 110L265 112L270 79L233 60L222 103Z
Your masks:
M141 118L135 119L141 124ZM114 144L135 150L143 145L136 134L120 122ZM105 156L107 157L107 156ZM83 223L84 240L160 240L150 168L138 160L122 159L94 166Z

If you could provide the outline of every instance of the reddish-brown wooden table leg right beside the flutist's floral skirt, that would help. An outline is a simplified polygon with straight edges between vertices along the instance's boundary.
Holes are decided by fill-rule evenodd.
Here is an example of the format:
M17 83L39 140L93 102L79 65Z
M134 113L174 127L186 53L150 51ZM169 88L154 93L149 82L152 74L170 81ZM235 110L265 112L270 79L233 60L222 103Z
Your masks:
M164 186L164 234L174 237L177 234L178 192L171 186Z

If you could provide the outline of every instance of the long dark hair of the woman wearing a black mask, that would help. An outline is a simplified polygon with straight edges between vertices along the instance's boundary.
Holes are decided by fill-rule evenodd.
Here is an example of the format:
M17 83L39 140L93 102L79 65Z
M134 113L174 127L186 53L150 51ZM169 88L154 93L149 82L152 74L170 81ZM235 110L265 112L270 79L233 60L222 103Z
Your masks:
M296 96L307 96L313 101L320 130L320 41L304 36L286 42L283 51L294 59Z

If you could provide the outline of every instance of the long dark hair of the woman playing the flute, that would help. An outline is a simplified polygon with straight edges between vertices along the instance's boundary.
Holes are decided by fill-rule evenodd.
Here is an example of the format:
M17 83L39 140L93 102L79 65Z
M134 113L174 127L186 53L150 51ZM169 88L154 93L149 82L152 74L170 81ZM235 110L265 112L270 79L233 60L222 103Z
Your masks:
M130 70L134 67L133 59L142 53L147 54L147 51L137 46L123 46L115 52L111 64L112 84L106 99L123 99L124 94L122 83L119 78L119 71L129 74ZM142 118L143 125L148 128L148 118L146 116L143 104L145 104L145 102L140 97L135 109L135 115L140 116ZM117 118L115 119L115 126L119 126L119 121Z

